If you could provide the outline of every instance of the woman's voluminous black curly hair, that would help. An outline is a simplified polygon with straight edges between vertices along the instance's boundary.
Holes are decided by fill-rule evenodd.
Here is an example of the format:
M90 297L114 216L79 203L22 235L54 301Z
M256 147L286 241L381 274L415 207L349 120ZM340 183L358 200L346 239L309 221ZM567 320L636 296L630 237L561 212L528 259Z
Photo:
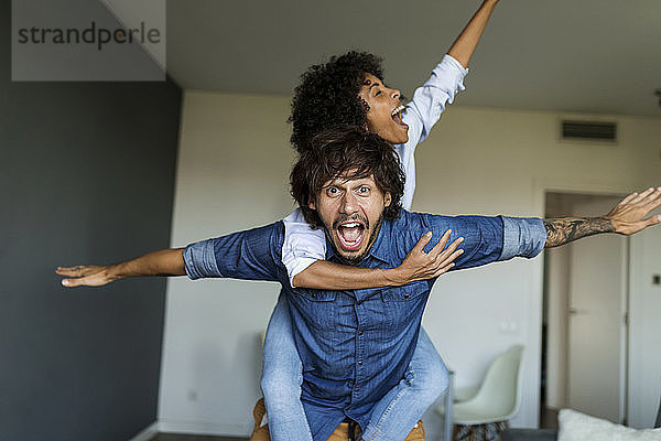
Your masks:
M315 135L346 126L365 127L367 110L358 98L365 74L383 79L382 60L367 52L347 52L301 75L292 99L291 142L302 152Z

